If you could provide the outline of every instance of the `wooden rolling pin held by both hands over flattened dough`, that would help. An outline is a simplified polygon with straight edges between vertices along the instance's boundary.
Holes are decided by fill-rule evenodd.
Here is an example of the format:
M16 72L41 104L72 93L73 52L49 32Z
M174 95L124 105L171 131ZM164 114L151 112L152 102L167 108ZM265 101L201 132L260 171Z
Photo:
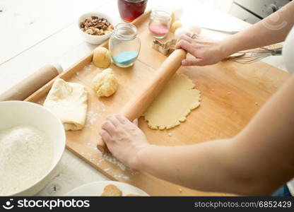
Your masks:
M153 79L148 83L145 89L124 107L122 114L131 122L139 118L149 105L151 105L153 100L155 100L160 91L163 90L167 81L169 81L177 69L180 68L182 59L185 59L186 56L187 52L183 49L176 49L172 52L172 54L165 59L163 64L161 64L160 68L157 69ZM101 138L98 139L97 147L101 152L107 151L107 146Z

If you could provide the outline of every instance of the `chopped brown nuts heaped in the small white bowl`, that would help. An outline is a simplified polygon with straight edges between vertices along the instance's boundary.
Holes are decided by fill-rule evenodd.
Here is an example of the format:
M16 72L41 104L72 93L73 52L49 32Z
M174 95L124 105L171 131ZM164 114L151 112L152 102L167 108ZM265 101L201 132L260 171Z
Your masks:
M89 35L107 35L114 30L113 25L107 19L95 16L86 18L86 20L81 22L80 28Z

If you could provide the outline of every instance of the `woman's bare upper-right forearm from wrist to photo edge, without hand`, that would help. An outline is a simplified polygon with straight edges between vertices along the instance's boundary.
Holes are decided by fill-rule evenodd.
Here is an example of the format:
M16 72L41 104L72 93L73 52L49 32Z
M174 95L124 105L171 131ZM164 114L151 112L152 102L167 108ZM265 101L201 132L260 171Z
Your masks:
M225 54L283 42L294 25L294 2L264 20L223 40Z

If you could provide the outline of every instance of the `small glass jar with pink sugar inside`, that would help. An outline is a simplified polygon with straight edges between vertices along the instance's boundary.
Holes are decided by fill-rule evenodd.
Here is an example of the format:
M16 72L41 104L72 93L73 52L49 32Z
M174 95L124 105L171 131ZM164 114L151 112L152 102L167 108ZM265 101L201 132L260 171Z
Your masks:
M172 22L172 11L164 6L157 6L152 9L149 31L153 37L161 39L167 35Z

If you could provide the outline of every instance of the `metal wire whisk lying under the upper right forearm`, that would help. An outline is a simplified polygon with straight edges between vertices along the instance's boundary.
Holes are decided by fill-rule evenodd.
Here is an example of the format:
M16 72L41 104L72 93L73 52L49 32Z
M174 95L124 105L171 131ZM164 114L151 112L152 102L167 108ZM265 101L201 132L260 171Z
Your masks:
M237 52L230 55L227 59L231 59L240 64L251 64L269 56L276 56L282 54L282 48L269 49L261 47L259 49L252 49L244 52Z

